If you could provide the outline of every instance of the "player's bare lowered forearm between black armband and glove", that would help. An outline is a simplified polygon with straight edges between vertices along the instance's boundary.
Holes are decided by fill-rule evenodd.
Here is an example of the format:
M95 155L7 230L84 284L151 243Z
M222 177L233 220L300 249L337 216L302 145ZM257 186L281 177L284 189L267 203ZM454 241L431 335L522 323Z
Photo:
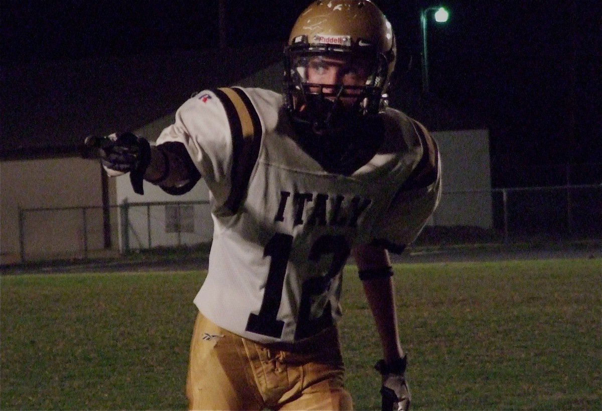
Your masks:
M403 356L397 327L394 285L391 277L362 281L368 306L380 336L383 356L390 363Z

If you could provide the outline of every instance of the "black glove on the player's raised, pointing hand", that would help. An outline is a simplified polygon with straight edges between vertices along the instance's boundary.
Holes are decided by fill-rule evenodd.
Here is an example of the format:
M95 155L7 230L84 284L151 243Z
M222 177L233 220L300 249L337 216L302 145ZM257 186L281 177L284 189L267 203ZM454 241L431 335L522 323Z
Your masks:
M84 144L98 150L98 156L109 176L129 173L134 192L144 194L144 172L151 163L151 144L145 138L126 132L108 137L90 136Z

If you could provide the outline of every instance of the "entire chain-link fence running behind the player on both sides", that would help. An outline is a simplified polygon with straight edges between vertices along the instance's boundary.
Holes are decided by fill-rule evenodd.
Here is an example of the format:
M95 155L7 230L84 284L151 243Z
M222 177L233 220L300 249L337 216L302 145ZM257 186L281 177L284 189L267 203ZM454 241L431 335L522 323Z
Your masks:
M483 204L484 207L479 207ZM483 209L487 212L485 217L478 216L480 224L454 223L471 221L470 217L483 213ZM209 243L212 234L213 220L207 201L124 203L107 208L40 208L19 212L22 262L87 259L157 247L197 246ZM418 238L418 244L600 239L602 185L566 185L444 193L442 206Z

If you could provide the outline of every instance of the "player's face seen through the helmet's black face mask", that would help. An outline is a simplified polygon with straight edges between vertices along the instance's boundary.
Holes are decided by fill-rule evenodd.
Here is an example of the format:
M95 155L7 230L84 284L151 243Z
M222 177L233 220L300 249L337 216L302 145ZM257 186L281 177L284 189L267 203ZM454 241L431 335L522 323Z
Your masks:
M332 84L332 85L350 85L363 86L370 76L370 61L362 58L342 58L342 57L312 57L307 65L306 81L314 84ZM318 93L318 87L311 87L310 90ZM324 93L336 93L336 88L323 87ZM346 94L360 94L361 89L346 90ZM329 97L334 99L334 97ZM344 105L352 105L355 102L353 97L343 97L341 99Z

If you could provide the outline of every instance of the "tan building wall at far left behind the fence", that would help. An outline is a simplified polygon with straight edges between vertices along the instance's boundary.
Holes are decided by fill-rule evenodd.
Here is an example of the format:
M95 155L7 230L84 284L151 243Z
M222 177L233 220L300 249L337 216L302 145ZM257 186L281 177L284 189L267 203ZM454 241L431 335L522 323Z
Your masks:
M0 162L0 264L19 261L22 251L60 255L83 244L82 210L49 208L102 207L101 165L79 158L54 158ZM25 250L20 247L19 211ZM90 247L102 248L102 212L90 210ZM99 219L100 217L100 219ZM95 235L92 235L96 233Z

